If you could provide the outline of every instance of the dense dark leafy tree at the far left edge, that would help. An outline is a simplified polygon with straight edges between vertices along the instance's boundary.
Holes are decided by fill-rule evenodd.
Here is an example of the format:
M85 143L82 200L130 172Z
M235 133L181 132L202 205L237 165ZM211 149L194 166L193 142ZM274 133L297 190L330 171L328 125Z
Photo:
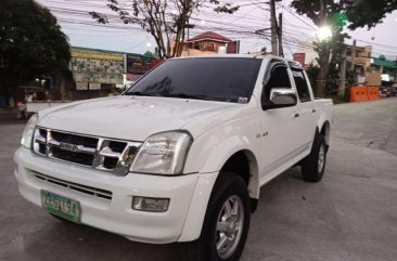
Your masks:
M0 92L65 70L71 58L67 37L56 18L33 0L1 0Z

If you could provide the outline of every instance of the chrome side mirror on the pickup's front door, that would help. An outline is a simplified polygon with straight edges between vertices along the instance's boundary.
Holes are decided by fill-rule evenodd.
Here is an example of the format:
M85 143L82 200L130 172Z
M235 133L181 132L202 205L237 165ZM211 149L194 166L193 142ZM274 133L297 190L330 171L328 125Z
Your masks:
M264 109L292 107L297 104L296 92L292 89L273 88L270 90L268 102L262 104ZM265 105L265 106L264 106Z

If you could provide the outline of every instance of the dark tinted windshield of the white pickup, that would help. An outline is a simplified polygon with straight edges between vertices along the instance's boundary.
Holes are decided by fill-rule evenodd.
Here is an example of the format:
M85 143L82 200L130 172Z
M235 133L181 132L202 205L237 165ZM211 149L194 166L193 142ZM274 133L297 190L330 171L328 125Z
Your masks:
M261 60L194 57L170 60L135 83L126 95L155 95L247 103Z

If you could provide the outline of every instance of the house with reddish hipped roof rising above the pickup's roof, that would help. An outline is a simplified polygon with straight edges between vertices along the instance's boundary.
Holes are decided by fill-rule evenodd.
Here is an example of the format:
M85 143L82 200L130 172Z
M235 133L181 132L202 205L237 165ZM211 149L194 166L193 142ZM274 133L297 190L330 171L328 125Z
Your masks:
M174 47L175 43L171 43L171 48ZM183 43L181 56L239 52L240 41L233 41L214 31L205 31L188 39Z

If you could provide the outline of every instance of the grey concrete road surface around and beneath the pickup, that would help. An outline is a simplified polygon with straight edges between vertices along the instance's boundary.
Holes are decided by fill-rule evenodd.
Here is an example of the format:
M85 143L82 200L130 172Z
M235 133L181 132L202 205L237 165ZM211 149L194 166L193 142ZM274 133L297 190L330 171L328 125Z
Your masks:
M65 224L23 199L11 160L22 129L0 125L0 260L179 260L176 244ZM242 261L397 260L397 99L335 106L323 181L293 168L260 193Z

